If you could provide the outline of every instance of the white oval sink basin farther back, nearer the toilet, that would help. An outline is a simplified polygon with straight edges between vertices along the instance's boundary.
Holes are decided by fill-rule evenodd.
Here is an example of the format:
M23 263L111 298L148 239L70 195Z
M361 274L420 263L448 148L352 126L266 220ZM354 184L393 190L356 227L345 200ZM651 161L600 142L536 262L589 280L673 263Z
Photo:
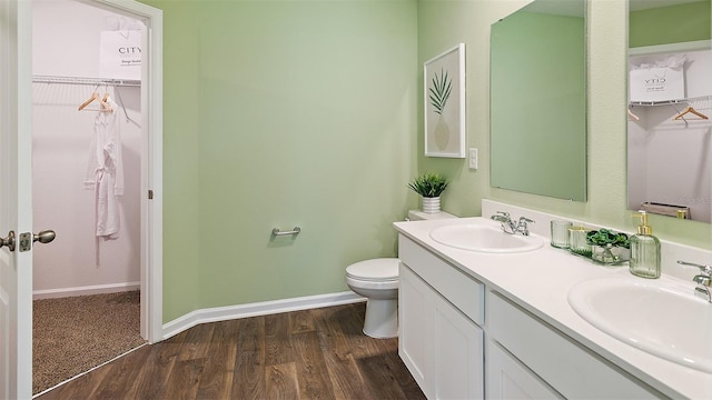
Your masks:
M500 228L475 223L436 228L431 238L457 249L496 253L532 251L544 244L540 238L508 234Z

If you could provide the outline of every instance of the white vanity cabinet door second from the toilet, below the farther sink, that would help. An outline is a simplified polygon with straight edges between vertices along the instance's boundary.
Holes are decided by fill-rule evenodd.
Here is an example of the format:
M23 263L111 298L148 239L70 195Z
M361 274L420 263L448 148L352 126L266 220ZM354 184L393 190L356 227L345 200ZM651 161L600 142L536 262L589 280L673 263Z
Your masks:
M435 398L483 399L483 331L443 298L435 303Z

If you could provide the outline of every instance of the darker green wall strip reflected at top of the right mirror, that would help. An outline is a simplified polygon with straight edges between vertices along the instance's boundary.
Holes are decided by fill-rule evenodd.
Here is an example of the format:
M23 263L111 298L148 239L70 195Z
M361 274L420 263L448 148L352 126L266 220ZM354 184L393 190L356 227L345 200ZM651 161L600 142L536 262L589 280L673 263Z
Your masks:
M631 11L630 47L710 40L711 3L708 0Z

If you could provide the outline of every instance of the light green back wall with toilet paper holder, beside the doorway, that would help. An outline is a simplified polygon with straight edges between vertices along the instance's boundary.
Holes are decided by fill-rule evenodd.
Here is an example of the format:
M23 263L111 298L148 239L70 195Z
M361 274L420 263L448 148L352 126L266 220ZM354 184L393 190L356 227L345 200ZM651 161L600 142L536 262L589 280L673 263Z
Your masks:
M164 320L347 290L417 198L415 1L164 10ZM278 227L301 233L273 240Z

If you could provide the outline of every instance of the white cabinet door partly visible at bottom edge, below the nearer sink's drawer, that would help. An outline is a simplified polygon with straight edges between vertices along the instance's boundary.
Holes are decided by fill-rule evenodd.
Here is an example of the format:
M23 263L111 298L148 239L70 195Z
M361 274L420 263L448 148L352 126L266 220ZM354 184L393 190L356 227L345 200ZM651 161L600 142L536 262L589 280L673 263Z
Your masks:
M485 369L487 399L563 399L493 340L487 340Z

